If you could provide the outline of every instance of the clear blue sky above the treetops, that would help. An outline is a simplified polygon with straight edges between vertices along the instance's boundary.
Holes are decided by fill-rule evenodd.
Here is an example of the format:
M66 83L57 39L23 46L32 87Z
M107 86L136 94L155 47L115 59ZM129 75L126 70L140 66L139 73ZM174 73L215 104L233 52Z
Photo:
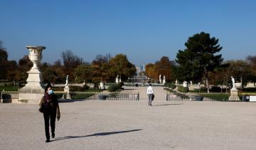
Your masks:
M64 50L91 62L97 54L127 54L142 65L176 58L188 37L217 37L224 59L256 55L255 0L0 0L0 40L9 59L43 45L43 61Z

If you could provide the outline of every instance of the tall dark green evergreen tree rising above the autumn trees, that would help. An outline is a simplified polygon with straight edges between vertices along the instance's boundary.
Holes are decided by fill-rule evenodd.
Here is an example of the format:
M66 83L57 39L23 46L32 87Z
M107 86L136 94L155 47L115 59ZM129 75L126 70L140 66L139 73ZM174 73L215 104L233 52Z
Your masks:
M176 55L177 72L183 79L198 81L204 76L209 91L208 72L221 67L223 58L216 54L223 47L218 45L218 39L210 37L209 33L198 33L188 37L186 49L179 50Z

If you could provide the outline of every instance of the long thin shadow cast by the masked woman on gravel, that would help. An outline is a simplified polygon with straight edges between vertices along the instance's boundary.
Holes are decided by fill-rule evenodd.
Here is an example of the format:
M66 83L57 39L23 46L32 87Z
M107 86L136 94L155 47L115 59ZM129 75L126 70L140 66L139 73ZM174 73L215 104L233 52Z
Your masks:
M75 138L82 138L82 137L95 137L95 136L106 136L106 135L112 135L112 134L127 133L127 132L137 132L140 130L142 130L142 129L132 129L132 130L118 131L118 132L100 132L100 133L84 135L84 136L57 137L57 138L51 140L50 142L55 142L55 141L62 140L62 139L75 139Z

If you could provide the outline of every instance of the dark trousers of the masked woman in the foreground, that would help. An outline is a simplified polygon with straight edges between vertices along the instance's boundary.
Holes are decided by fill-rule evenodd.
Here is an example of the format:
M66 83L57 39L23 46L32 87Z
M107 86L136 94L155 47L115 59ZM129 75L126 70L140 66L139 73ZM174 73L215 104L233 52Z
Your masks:
M49 120L50 120L50 129L51 133L54 134L55 132L55 119L56 114L45 112L43 113L43 118L45 120L45 130L46 130L46 139L50 139L50 133L49 133Z

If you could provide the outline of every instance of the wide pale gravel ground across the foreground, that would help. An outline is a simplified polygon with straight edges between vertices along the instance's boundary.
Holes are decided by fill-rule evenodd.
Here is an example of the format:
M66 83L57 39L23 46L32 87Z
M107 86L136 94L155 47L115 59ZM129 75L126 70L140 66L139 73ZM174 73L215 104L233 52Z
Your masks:
M256 103L60 103L46 144L37 105L0 104L0 149L255 149Z

